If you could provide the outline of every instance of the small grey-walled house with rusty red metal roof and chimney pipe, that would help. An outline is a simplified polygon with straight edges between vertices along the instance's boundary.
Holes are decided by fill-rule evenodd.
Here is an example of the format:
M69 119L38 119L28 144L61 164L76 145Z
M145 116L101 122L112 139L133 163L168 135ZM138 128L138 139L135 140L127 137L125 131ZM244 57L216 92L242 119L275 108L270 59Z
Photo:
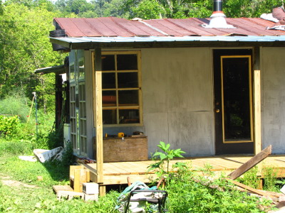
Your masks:
M140 160L160 141L185 156L285 153L284 9L262 18L214 9L210 18L54 18L61 35L51 43L70 51L74 153Z

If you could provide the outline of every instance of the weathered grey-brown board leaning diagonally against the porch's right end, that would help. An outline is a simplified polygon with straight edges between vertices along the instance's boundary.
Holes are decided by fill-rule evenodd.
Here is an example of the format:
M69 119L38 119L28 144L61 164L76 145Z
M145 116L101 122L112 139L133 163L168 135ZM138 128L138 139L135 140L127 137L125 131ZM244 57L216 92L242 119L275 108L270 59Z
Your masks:
M268 155L271 154L271 145L264 148L263 151L255 155L253 158L250 158L246 163L241 165L239 168L234 170L232 173L229 174L229 178L234 180L239 178L242 174L246 173L248 170L254 167L254 165L257 165L262 160L267 158Z

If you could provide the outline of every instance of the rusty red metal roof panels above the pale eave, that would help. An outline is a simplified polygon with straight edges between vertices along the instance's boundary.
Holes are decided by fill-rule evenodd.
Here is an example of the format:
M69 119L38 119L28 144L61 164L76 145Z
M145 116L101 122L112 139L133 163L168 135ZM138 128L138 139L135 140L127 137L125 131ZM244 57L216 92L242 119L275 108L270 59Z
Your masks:
M68 37L133 37L133 36L217 36L217 35L285 35L269 29L273 21L262 18L226 18L235 28L204 28L209 18L165 18L131 21L124 18L55 18L56 25Z

